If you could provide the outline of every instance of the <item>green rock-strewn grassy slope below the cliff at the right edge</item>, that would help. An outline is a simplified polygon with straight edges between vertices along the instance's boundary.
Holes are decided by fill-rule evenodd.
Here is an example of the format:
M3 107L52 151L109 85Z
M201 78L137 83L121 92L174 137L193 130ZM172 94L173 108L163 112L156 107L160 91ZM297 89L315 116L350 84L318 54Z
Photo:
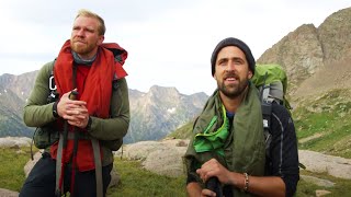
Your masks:
M333 90L317 99L304 101L293 112L298 139L316 134L318 138L299 143L308 149L327 154L351 158L351 101L350 92ZM340 142L342 141L342 143Z

